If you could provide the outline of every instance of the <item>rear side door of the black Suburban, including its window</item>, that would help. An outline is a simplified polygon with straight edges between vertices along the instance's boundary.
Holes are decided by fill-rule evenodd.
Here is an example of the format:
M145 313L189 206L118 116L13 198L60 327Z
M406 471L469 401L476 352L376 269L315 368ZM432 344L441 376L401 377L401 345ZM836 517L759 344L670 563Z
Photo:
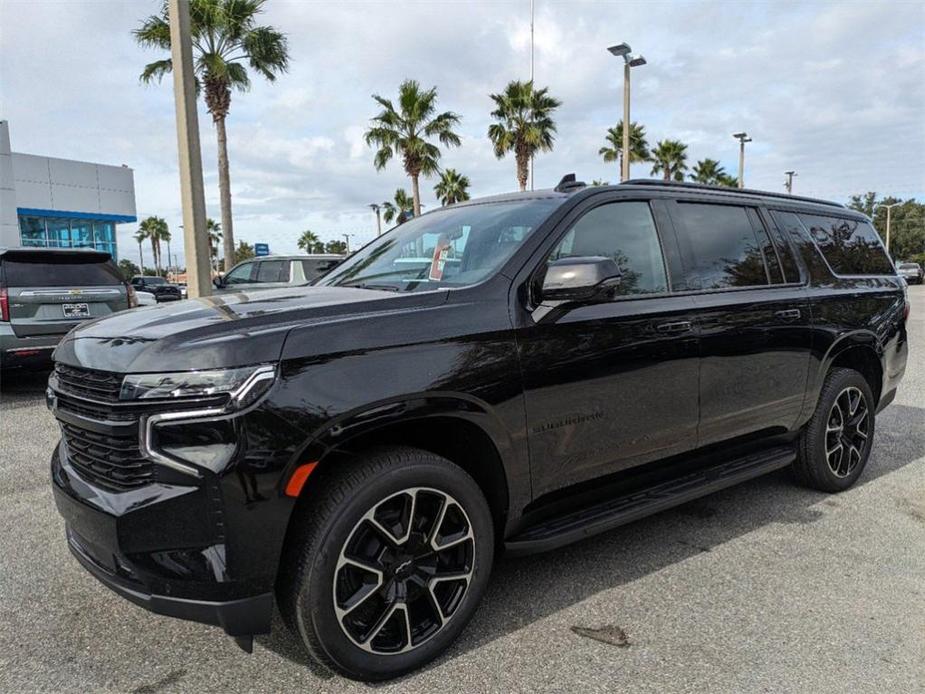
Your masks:
M700 200L668 207L700 326L700 445L790 429L812 346L792 250L757 207Z

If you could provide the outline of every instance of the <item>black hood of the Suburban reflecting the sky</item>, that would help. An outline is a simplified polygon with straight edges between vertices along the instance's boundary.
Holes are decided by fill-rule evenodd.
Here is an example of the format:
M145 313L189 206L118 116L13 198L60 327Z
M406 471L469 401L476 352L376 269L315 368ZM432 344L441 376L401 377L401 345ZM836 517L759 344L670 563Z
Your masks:
M294 327L440 305L447 292L299 287L222 294L122 311L84 323L55 361L120 373L188 371L277 361Z

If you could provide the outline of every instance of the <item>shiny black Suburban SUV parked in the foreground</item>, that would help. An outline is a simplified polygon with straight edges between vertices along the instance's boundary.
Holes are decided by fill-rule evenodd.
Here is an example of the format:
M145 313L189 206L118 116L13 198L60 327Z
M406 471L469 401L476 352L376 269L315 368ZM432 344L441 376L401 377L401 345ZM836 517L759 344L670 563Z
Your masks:
M275 598L318 661L392 677L452 643L501 548L778 468L854 484L904 286L869 219L796 196L564 181L442 208L313 287L72 331L55 499L125 598L245 649Z

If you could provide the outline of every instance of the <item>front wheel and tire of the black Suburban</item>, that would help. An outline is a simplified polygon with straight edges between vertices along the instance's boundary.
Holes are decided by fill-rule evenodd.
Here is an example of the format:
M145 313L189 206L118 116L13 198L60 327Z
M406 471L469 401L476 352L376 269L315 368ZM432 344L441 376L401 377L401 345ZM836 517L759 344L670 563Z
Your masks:
M427 451L378 449L332 472L293 519L280 609L327 668L397 677L440 655L475 612L491 512L465 471Z

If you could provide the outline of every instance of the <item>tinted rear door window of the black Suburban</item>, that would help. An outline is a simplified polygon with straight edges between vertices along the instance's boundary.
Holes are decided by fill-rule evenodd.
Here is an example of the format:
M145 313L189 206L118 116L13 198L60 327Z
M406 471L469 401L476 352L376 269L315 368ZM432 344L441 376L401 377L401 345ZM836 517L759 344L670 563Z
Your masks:
M768 284L765 252L771 241L756 232L744 207L678 203L692 257L687 283L692 288L754 287Z

